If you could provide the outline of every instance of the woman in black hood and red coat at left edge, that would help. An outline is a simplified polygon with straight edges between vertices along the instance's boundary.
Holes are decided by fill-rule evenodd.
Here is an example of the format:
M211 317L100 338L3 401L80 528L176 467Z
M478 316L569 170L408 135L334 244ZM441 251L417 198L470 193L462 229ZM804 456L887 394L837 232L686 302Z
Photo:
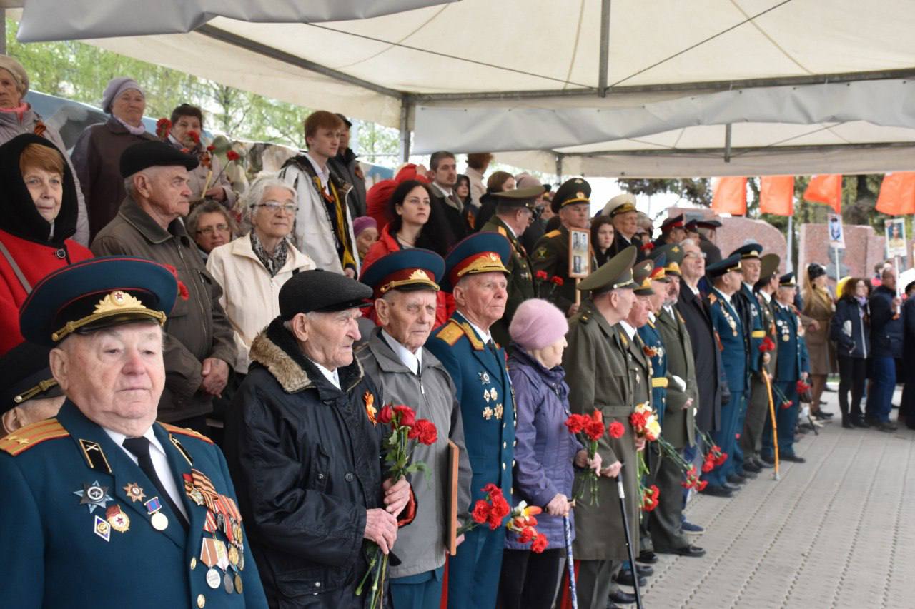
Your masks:
M19 306L48 272L92 258L70 240L76 183L64 155L36 134L0 145L0 355L22 342Z

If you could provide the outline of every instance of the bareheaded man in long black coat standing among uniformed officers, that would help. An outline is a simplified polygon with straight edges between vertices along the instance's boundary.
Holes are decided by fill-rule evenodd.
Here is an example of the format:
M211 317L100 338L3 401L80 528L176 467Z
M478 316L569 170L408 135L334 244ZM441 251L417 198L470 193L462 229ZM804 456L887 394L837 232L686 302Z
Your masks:
M683 315L693 344L695 379L699 389L699 411L695 422L705 433L715 431L721 422L721 351L712 327L712 318L699 294L699 280L705 276L705 257L694 240L684 240L681 264L683 278L677 310Z

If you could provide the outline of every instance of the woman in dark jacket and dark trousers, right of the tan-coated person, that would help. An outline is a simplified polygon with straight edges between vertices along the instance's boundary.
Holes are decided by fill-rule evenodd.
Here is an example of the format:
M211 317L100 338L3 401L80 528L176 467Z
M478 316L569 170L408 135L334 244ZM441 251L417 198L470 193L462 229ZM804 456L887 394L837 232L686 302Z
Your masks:
M867 427L861 414L861 397L867 380L870 353L870 306L867 283L860 277L845 282L829 324L829 338L835 343L839 360L839 410L846 429ZM848 391L852 392L851 408Z

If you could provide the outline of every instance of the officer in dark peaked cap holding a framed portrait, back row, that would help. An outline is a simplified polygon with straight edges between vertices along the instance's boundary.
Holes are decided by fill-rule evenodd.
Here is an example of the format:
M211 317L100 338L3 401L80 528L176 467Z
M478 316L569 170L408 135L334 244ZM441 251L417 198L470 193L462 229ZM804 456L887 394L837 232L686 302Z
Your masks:
M548 294L541 297L550 301L565 315L576 314L578 305L576 301L575 282L569 279L569 229L590 230L589 218L591 209L591 185L580 177L573 177L556 190L551 206L553 212L559 214L562 226L551 230L540 240L533 251L533 272L545 272L547 282L554 277L561 280L562 285L547 288ZM591 260L591 270L597 268L597 262Z

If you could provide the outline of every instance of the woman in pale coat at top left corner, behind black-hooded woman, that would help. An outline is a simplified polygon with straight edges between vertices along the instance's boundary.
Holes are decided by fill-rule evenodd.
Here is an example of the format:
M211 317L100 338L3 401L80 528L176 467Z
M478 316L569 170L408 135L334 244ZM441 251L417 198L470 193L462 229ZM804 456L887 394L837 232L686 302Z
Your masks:
M0 144L5 144L19 134L36 134L58 147L64 160L70 166L70 173L76 180L76 172L67 155L67 146L63 143L58 130L46 124L32 110L25 98L28 92L28 74L16 59L0 55ZM89 245L89 216L86 215L86 204L82 200L80 182L76 182L76 232L73 235L80 245Z

